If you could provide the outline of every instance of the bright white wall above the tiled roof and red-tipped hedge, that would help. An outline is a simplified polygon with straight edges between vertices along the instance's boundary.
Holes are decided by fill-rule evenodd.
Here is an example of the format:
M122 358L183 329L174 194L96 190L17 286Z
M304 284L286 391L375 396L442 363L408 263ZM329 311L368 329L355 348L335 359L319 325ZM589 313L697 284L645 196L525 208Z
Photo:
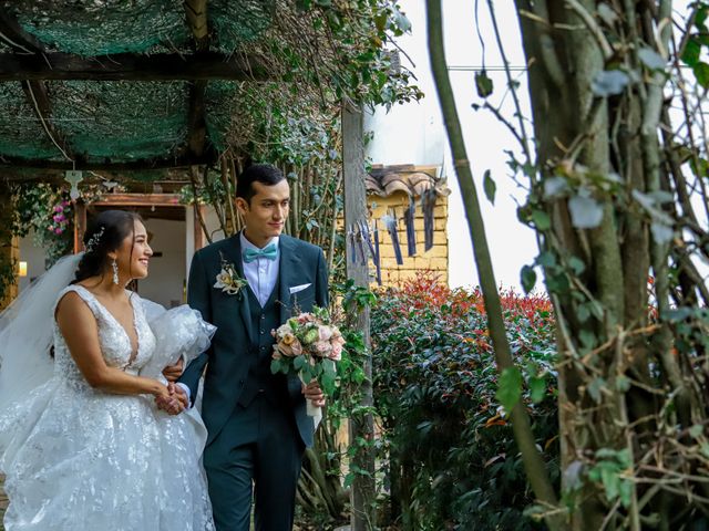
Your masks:
M501 25L506 53L513 65L524 64L518 25L513 2L494 2L497 22ZM374 132L367 155L374 164L435 164L443 165L442 175L448 177L452 195L449 198L449 283L451 287L470 287L479 283L473 261L473 251L458 180L451 164L450 148L444 135L438 96L430 70L427 43L424 0L402 0L407 17L412 23L412 34L401 38L399 44L411 56L411 66L402 55L402 63L410 66L418 77L415 82L425 93L420 103L398 105L387 113L378 108L373 116L366 117L366 129ZM445 51L449 67L471 66L482 63L482 50L475 33L475 2L470 0L445 0L443 2ZM496 51L486 2L479 10L483 39L486 44L486 65L502 65ZM520 95L524 113L530 116L524 72L517 72L522 83ZM499 103L505 91L503 72L489 72L495 92L492 103ZM451 70L451 83L461 118L467 157L482 202L487 242L493 258L499 284L520 287L520 269L533 261L537 253L534 233L516 218L516 204L523 201L523 190L508 177L507 156L504 149L516 149L515 140L492 114L471 108L481 103L475 94L474 72ZM512 116L511 97L504 101L503 113ZM494 207L482 191L481 180L490 169L497 185Z

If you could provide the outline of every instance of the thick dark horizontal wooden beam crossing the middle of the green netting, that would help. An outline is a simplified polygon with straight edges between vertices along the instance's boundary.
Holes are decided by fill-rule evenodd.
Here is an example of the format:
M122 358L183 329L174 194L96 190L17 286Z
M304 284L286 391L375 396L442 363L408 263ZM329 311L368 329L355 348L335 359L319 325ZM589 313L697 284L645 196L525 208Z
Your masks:
M235 80L268 81L266 70L256 62L217 52L193 54L115 53L82 58L70 53L21 55L0 54L0 81L93 80L172 81Z

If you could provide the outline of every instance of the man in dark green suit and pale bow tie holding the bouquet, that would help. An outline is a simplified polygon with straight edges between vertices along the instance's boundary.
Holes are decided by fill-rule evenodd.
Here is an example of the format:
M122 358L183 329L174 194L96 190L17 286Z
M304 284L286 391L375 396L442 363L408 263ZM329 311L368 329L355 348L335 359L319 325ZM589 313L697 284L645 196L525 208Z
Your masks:
M244 230L197 251L189 271L189 305L217 332L177 387L194 404L206 366L204 467L217 530L248 531L254 493L256 529L289 531L302 454L312 445L306 399L322 407L325 398L317 384L271 374L270 332L296 310L327 308L328 274L319 247L281 235L290 200L282 173L254 165L237 183ZM235 274L217 279L229 267Z

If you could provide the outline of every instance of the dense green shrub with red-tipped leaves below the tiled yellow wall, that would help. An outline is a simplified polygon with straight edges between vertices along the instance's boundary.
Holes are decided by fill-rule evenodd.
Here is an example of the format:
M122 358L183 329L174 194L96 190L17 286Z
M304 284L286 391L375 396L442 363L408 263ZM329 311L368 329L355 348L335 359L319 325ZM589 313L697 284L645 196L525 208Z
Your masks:
M479 291L432 273L383 290L372 309L374 400L382 421L384 513L407 530L542 529L512 428L495 399L497 372ZM558 481L554 320L545 298L503 293L524 403ZM528 386L527 386L528 387ZM383 508L382 508L383 509Z

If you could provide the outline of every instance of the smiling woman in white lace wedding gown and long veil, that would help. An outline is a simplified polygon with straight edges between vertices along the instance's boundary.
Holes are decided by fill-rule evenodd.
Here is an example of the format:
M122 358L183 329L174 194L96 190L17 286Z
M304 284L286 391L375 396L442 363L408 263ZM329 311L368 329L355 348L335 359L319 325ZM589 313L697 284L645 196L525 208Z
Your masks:
M204 425L165 413L185 404L161 374L214 327L125 290L152 256L136 215L100 214L84 243L0 316L6 530L214 529Z

